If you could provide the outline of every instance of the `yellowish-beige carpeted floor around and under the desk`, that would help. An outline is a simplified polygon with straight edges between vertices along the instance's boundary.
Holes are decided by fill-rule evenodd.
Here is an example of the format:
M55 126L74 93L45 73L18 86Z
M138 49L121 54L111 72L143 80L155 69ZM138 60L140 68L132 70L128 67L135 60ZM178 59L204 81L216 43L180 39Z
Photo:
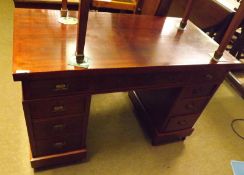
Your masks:
M11 76L13 3L0 1L0 175L231 175L244 160L244 141L231 130L244 118L244 100L224 83L184 142L152 147L126 93L92 98L88 161L40 172L29 163L21 84ZM244 125L237 126L244 133Z

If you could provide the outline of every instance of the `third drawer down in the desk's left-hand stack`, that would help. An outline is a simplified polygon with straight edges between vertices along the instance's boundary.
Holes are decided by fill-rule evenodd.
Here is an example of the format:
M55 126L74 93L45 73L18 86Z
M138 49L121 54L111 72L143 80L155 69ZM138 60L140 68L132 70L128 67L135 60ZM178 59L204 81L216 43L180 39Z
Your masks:
M52 118L33 121L34 137L37 140L68 134L81 134L83 116Z

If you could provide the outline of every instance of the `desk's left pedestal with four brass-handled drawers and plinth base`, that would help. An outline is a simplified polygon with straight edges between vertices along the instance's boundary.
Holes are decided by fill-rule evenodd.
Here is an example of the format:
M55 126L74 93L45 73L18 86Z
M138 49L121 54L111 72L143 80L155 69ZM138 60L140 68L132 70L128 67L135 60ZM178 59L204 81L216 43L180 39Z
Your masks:
M43 168L86 158L91 95L79 79L22 81L31 165Z

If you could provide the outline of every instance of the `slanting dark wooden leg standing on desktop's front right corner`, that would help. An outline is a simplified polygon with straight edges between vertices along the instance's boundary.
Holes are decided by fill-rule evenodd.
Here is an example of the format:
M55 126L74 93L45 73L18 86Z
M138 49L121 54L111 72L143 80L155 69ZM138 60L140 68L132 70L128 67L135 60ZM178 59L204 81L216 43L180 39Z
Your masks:
M244 19L244 2L241 2L239 8L237 9L235 16L233 17L228 29L225 32L225 35L224 35L218 49L214 53L214 57L213 57L214 61L218 61L222 57L223 52L225 51L233 34L235 33L236 29L239 27L239 25L243 19Z

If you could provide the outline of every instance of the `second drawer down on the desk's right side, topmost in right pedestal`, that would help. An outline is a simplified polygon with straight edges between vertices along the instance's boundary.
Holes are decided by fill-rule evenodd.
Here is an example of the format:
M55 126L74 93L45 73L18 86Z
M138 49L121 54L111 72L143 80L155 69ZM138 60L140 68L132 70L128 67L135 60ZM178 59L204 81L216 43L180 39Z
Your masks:
M211 97L216 90L216 85L198 85L186 87L182 91L182 98Z

